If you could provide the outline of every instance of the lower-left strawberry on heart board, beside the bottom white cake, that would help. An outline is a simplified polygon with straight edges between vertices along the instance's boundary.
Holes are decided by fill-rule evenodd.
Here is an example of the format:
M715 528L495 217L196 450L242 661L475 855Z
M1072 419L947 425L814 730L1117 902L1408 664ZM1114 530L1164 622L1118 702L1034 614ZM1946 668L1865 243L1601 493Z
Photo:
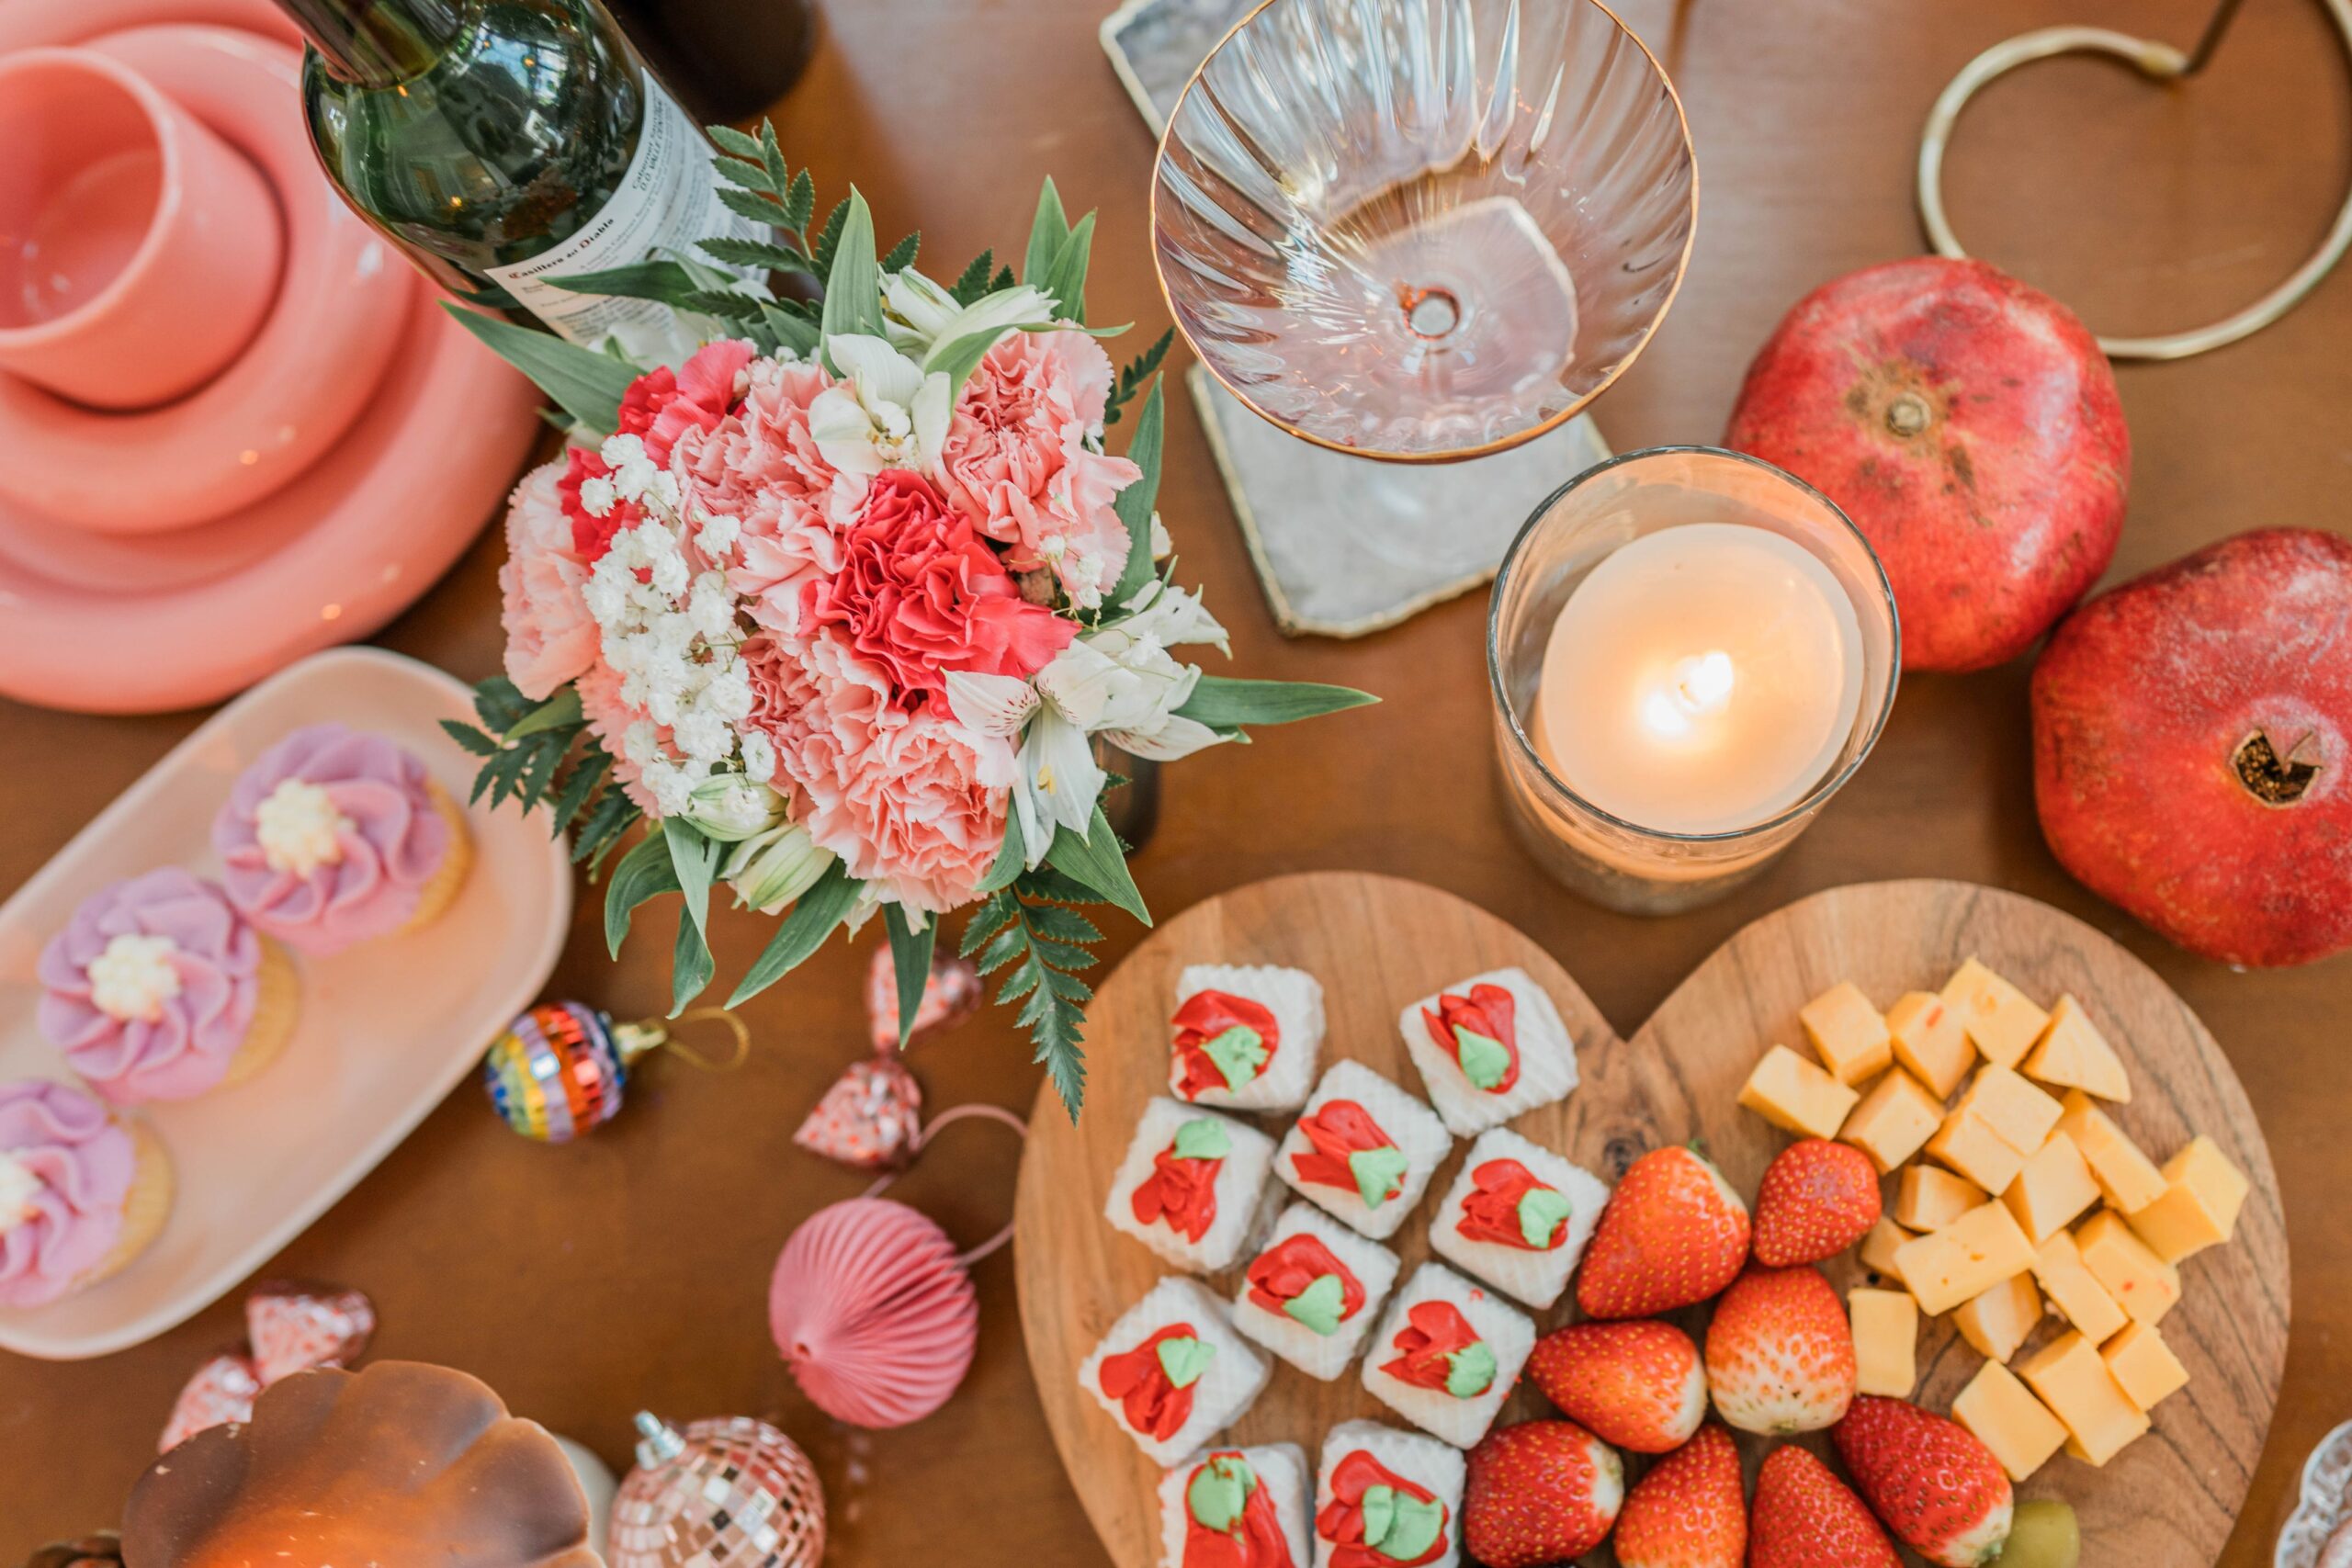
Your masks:
M1625 1502L1616 1448L1571 1420L1526 1420L1470 1450L1463 1547L1486 1568L1536 1568L1602 1544Z

